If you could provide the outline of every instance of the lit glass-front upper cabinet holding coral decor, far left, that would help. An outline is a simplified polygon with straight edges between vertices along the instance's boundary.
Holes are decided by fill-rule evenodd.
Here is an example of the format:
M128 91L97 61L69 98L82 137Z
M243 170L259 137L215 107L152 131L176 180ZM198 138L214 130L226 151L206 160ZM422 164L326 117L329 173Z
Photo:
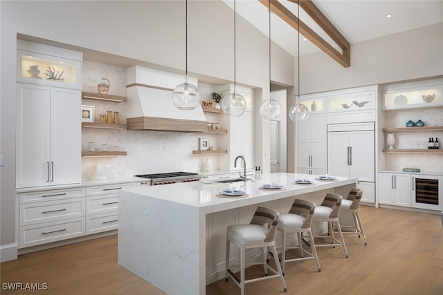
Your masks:
M82 53L17 40L17 81L81 89Z

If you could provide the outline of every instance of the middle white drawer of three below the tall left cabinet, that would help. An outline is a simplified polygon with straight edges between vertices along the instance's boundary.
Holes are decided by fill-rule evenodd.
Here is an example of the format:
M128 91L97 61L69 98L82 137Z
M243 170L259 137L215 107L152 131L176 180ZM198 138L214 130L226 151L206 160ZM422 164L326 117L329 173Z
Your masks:
M20 225L84 217L84 198L20 205Z

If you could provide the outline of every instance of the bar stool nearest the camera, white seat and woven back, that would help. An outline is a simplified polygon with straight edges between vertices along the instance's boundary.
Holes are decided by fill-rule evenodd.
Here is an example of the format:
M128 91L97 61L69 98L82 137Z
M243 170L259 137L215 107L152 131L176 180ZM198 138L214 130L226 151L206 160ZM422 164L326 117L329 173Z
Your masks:
M241 289L241 294L244 295L244 285L247 283L257 282L259 280L266 280L269 278L280 277L282 281L283 291L286 292L286 284L278 261L277 250L275 249L275 233L277 231L278 218L280 213L277 210L257 207L254 216L248 225L230 225L226 229L226 276L233 278L233 281ZM239 247L240 261L239 264L229 265L229 248L230 243ZM245 250L251 248L260 248L262 251L262 262L260 263L246 263ZM266 257L270 249L275 260L277 271L266 263ZM244 279L244 272L246 266L249 265L263 265L264 276L260 278ZM240 278L237 278L229 267L240 267ZM273 275L268 276L268 269L273 272Z

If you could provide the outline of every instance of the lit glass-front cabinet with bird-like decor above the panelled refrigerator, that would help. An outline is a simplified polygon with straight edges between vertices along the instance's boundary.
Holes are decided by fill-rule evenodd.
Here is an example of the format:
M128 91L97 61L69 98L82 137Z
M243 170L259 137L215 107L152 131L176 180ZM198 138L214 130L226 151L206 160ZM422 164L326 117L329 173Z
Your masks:
M343 93L327 97L328 111L363 111L375 108L375 91Z

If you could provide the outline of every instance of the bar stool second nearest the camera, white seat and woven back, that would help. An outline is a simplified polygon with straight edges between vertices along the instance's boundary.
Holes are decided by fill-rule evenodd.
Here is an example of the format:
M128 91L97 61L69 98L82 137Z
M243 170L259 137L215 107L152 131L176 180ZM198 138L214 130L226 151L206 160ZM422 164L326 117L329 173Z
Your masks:
M280 214L280 220L278 220L277 230L282 233L282 273L284 275L284 264L298 261L315 259L317 263L318 272L320 272L320 263L318 262L318 256L316 251L316 245L314 243L314 236L312 236L312 220L314 217L314 210L316 204L308 200L293 200L291 209L289 213ZM298 238L298 245L287 247L286 237L288 233L294 233ZM303 249L303 236L307 233L309 238L309 245L311 247L311 253ZM295 243L295 240L294 240ZM300 249L301 257L286 259L287 249ZM305 256L304 254L307 254Z

